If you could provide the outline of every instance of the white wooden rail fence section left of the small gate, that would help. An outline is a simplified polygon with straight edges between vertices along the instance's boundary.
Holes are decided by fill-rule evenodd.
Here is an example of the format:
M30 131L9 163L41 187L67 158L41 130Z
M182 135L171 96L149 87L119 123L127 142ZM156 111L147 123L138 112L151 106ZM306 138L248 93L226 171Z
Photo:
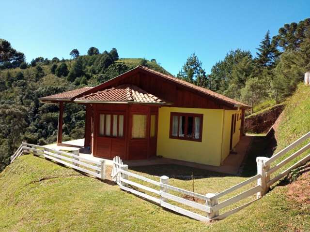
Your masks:
M44 156L47 160L56 161L83 173L98 177L102 180L105 179L105 160L95 161L85 159L79 156L78 150L73 151L73 153L69 153L44 146L22 143L11 157L11 163L25 153L33 153L34 155Z

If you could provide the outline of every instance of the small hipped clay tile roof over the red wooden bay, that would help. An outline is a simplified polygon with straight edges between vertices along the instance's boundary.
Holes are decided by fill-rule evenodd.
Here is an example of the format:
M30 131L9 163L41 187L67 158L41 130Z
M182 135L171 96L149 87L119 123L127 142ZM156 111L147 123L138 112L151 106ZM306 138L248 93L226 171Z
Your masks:
M112 87L95 93L79 97L74 102L124 102L124 103L151 103L151 104L166 104L164 100L157 98L143 89L124 84L117 87Z

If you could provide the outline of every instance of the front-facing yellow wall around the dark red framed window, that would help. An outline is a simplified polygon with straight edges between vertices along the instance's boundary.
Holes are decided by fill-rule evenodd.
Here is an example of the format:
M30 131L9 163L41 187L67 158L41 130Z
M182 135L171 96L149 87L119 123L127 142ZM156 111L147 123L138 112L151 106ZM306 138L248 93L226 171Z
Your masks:
M170 113L203 114L202 142L170 139ZM158 112L157 156L219 166L224 110L161 107Z

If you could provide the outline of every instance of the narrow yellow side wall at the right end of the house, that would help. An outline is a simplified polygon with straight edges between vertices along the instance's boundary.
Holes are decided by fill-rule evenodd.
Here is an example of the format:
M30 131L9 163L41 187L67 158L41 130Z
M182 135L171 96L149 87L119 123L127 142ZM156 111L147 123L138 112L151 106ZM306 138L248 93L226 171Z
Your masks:
M232 123L232 115L233 114L241 114L241 110L224 110L224 120L223 120L223 143L222 143L222 158L221 160L225 160L225 158L229 155L230 152L230 139L231 139L231 123ZM238 117L237 117L238 118ZM233 146L237 145L240 139L240 126L241 119L236 120L236 130L233 133Z

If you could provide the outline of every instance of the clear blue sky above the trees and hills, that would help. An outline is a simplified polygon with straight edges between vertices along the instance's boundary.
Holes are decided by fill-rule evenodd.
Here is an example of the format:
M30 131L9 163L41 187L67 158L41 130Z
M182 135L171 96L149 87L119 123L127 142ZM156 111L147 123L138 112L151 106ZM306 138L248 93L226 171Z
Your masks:
M27 61L70 58L77 48L117 48L120 58L155 58L177 74L193 52L207 73L231 49L256 48L269 29L310 17L309 0L1 0L0 38Z

